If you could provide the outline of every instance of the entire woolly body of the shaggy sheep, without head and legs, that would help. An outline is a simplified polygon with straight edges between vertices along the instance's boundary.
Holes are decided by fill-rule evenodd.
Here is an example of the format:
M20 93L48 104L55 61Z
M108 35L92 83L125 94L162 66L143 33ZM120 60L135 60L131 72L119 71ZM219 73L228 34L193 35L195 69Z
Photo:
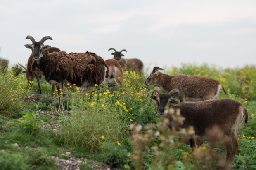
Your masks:
M65 78L70 83L81 86L85 80L98 85L102 83L105 78L103 66L107 67L104 60L88 51L85 53L66 53L65 51L49 53L44 50L44 56L39 63L33 62L32 69L39 67L47 81L54 79L60 82ZM56 77L57 75L59 78ZM108 67L106 76L108 76Z

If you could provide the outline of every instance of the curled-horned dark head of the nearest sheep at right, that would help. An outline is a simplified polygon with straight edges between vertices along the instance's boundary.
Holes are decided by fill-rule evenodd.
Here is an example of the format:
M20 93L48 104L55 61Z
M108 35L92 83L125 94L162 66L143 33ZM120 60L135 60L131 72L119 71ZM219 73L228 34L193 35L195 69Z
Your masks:
M157 92L158 96L153 96L153 93ZM180 92L178 89L173 89L169 93L162 94L162 91L159 87L155 87L153 90L152 96L150 98L156 102L157 105L157 112L160 116L164 115L164 108L171 104L178 104L178 101L176 101L172 95L174 93L178 93L180 95Z

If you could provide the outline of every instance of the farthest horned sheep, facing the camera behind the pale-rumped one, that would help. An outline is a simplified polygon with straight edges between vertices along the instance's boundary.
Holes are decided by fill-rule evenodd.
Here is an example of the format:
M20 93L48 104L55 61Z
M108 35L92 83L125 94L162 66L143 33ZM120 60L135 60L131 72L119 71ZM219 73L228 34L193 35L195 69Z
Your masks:
M116 59L119 64L121 65L121 67L123 69L132 69L137 73L142 73L143 71L143 62L140 59L137 58L132 58L132 59L125 59L122 56L124 56L122 54L122 51L127 52L125 49L119 51L116 51L114 48L109 48L109 50L114 50L114 53L111 53L112 55L114 55L114 59Z

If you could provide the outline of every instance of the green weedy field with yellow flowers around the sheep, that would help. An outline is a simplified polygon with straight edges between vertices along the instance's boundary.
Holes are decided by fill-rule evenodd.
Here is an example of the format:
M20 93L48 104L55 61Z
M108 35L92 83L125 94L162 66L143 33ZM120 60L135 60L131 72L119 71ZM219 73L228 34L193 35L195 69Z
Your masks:
M249 118L247 124L243 121L237 136L239 149L233 168L256 169L256 66L222 69L182 64L164 70L168 75L214 78L227 92L221 91L219 98L237 100L247 108ZM29 87L24 73L15 75L15 69L1 69L2 170L57 170L67 165L73 169L79 166L80 170L208 170L225 163L222 142L214 149L205 143L194 152L178 142L180 132L165 126L149 97L154 86L145 86L147 74L125 71L121 89L108 89L105 83L83 94L78 87L66 89L64 113L58 113L57 92L50 95L52 87L44 78L42 94L38 94L36 79Z

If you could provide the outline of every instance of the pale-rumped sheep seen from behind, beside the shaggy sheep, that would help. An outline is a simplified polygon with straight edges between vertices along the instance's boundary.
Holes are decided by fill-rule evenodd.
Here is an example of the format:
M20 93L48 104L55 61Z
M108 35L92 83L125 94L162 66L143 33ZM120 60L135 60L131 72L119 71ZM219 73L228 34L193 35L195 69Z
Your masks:
M105 60L105 63L109 67L109 76L106 78L106 82L109 86L113 86L119 83L122 86L123 83L123 70L118 61L114 59Z

